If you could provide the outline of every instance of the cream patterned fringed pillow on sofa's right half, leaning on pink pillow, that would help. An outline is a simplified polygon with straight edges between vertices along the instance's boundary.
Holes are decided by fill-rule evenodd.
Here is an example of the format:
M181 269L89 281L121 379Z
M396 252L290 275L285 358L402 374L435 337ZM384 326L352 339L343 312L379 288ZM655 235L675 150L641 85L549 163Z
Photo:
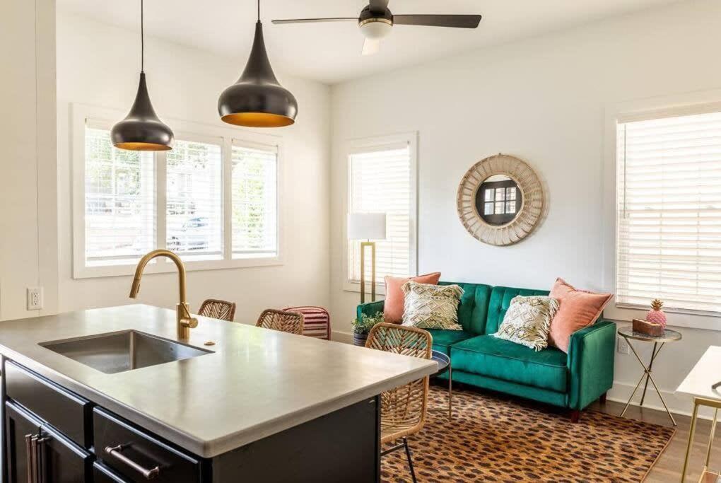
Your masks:
M548 347L551 321L558 311L558 300L544 296L516 296L510 301L498 327L493 334L499 339L531 347L536 351Z

